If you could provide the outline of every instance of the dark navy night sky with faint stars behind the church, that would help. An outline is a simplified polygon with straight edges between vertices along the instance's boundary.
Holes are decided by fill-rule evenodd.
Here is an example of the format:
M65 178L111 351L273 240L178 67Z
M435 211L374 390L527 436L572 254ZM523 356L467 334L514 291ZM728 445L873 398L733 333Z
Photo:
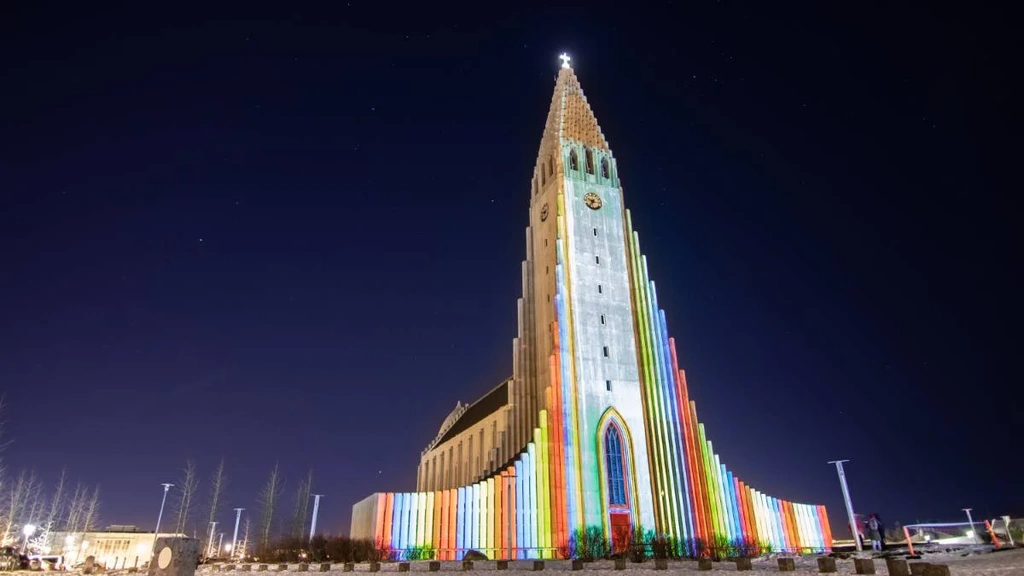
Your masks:
M1008 13L266 4L0 8L8 474L145 528L187 457L249 508L312 467L342 533L412 489L511 372L566 50L723 461L835 526L839 457L887 521L1024 511Z

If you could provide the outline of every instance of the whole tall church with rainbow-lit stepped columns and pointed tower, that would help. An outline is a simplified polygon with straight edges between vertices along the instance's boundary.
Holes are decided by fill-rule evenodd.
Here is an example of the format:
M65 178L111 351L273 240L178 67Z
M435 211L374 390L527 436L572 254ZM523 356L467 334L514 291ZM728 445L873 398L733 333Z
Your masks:
M457 405L421 454L416 492L373 494L351 536L397 552L544 559L582 530L825 550L824 506L734 478L696 417L618 165L569 58L530 182L512 376Z

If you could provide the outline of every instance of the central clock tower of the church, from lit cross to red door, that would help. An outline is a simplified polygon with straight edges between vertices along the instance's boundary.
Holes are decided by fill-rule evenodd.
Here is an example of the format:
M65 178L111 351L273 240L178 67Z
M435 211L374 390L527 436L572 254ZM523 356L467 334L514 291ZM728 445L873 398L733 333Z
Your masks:
M562 58L534 171L513 387L560 412L565 531L613 533L654 525L626 210L615 159Z

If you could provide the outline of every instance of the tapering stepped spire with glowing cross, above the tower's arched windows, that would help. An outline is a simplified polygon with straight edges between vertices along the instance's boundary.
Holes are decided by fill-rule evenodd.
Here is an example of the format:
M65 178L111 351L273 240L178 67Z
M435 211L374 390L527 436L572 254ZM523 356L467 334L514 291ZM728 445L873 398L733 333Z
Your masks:
M569 66L568 54L562 53L558 57L561 58L562 66L555 81L555 93L551 97L548 121L541 138L538 165L545 159L559 158L561 155L556 154L556 151L567 141L610 152L594 111L590 109L587 96L580 87L580 80Z

